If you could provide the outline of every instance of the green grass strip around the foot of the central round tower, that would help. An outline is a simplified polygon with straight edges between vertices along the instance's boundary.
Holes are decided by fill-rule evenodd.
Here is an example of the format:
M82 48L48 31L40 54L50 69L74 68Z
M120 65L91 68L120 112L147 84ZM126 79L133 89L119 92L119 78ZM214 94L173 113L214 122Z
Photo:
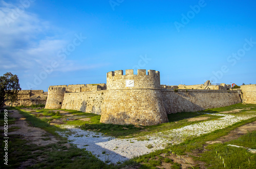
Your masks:
M116 125L116 124L100 123L100 115L97 115L97 116L93 116L90 122L87 122L87 124L82 125L81 129L96 130L98 132L102 132L111 136L127 138L127 136L139 137L146 134L152 134L160 131L180 128L180 127L195 124L201 121L208 121L208 120L221 118L221 116L202 115L196 112L179 112L177 114L169 114L167 116L169 119L168 123L163 123L163 124L154 125L154 126L145 126L145 127L136 126L135 127L135 125ZM187 121L188 118L193 118L193 117L209 117L209 119L195 121L195 122ZM70 122L69 124L72 124L72 122ZM146 128L146 131L142 130L143 128Z

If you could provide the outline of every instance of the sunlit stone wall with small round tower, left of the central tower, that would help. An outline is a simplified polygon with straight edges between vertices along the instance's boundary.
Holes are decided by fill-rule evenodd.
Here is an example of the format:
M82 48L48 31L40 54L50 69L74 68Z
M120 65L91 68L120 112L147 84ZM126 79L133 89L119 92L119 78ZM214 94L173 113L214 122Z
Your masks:
M49 101L45 108L65 108L101 114L104 89L105 83L50 86Z

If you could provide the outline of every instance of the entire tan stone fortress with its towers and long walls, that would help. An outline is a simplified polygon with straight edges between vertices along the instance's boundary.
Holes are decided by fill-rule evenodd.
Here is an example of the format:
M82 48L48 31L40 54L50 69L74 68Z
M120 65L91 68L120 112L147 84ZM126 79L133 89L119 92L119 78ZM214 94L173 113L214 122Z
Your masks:
M160 85L155 70L111 71L107 84L61 85L49 88L46 108L74 109L101 115L101 123L157 125L167 114L199 111L242 102L255 103L255 85L227 90L230 85ZM191 88L191 89L189 89ZM193 90L192 90L193 89ZM196 90L198 89L198 90ZM24 92L24 97L26 92Z

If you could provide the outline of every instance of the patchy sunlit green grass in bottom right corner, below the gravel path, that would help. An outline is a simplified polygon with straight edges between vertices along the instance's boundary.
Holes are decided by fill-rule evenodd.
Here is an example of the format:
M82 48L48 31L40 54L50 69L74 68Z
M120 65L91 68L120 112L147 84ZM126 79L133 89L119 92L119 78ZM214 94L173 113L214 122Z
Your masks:
M166 147L164 150L156 150L152 153L149 153L149 154L145 154L145 155L142 155L142 156L139 156L139 157L135 157L134 159L132 160L129 160L129 161L126 161L124 164L125 165L139 165L139 163L144 163L150 159L155 159L157 156L159 156L160 154L165 154L166 156L170 155L171 152L174 152L175 154L180 154L180 155L186 155L186 153L188 152L192 152L193 150L197 150L197 151L202 151L203 150L203 145L205 145L206 143L205 142L208 142L210 140L215 140L221 136L224 136L224 135L227 135L231 130L234 130L242 125L245 125L247 123L251 123L251 122L254 122L256 121L256 117L255 118L251 118L251 119L248 119L248 120L245 120L245 121L241 121L241 122L238 122L238 123L235 123L231 126L228 126L224 129L219 129L219 130L216 130L214 132L211 132L211 133L208 133L208 134L204 134L204 135L201 135L199 137L195 137L195 138L190 138L190 139L187 139L185 140L185 142L179 144L179 145L173 145L173 146L169 146L169 147ZM242 139L240 142L242 143L246 143L248 142L248 144L243 144L244 147L250 147L250 145L253 145L255 140L252 141L251 144L249 144L251 141L249 140L249 137L250 136L254 136L254 135L251 135L251 134L254 134L253 133L248 133L248 136L244 136L244 137L240 137L240 139ZM251 139L255 139L255 137L252 137ZM248 141L246 141L248 140ZM228 142L226 143L225 145L227 144L231 144L231 143L236 143L236 141L232 141L232 142ZM223 144L220 144L220 145L223 145ZM237 145L237 144L236 144ZM238 145L239 146L239 145ZM232 158L232 156L234 157L236 151L233 151L233 150L236 150L234 149L234 147L230 147L230 146L226 146L228 147L227 150L232 150L232 153L228 154L227 156L230 156L230 158ZM208 147L207 147L208 148ZM255 160L255 154L254 155L251 155L251 153L248 153L249 155L246 156L246 154L243 154L246 152L245 149L241 149L241 152L239 152L240 154L242 154L242 157L243 157L243 162L244 163L243 165L241 166L246 166L246 161L248 161L248 159L251 161L251 160ZM170 151L172 150L172 151ZM212 158L217 158L216 157L216 151L218 152L222 152L222 149L212 149L212 151L208 152L205 156L203 156L202 158L199 158L199 157L194 157L195 160L202 160L204 162L211 162ZM224 157L224 160L225 158L227 158L227 156L223 156ZM247 158L248 157L248 158ZM169 162L169 163L172 163L174 164L174 162L172 162L172 160L168 160L166 158L163 158L163 159L159 159L160 161L162 162ZM208 163L208 166L207 168L222 168L224 167L224 165L222 165L222 161L221 160L213 160L214 162L211 162L211 163ZM230 165L230 168L232 168L233 166L237 166L239 163L236 162L236 160L228 160L227 162L227 165L229 165L229 161L230 163L236 163L236 165ZM241 161L240 161L241 162ZM250 165L254 167L254 164L252 164L253 162L250 162ZM122 164L122 166L124 165ZM211 167L212 166L212 167ZM214 167L214 166L218 166L218 167ZM232 167L231 167L232 166ZM146 164L143 164L141 165L141 168L143 167L149 167L149 168L155 168L155 166L151 165L150 163L146 163ZM180 167L178 164L175 164L173 165L173 167ZM253 168L251 167L251 168ZM198 168L196 166L194 166L194 168ZM239 167L233 167L233 168L239 168ZM243 168L243 167L240 167L240 168ZM250 168L250 167L245 167L245 168ZM256 168L256 167L254 167Z

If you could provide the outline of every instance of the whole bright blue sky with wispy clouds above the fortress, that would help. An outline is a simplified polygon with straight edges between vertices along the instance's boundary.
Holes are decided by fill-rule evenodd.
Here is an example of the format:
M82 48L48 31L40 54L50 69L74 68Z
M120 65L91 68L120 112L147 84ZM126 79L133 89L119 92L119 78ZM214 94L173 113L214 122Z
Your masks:
M0 1L0 74L44 91L138 68L160 71L165 85L255 84L255 9L254 1Z

